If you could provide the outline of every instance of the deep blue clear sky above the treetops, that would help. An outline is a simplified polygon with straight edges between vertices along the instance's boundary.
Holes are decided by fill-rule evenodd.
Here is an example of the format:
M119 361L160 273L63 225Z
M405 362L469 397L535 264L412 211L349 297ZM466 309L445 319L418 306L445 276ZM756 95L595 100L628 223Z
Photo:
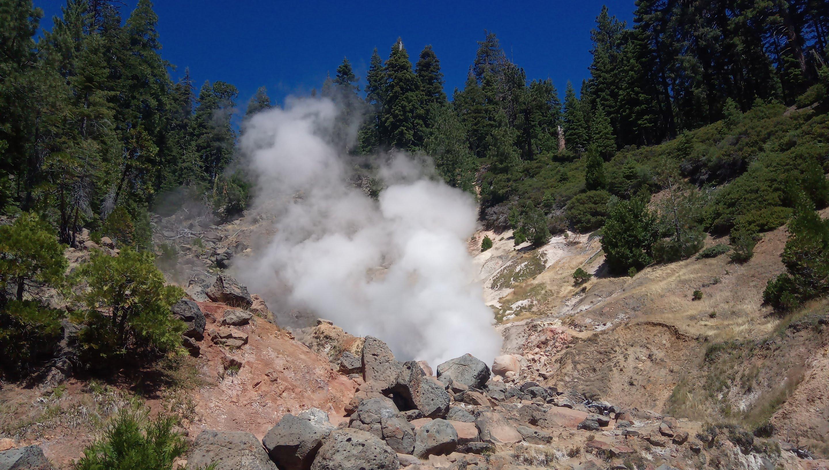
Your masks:
M51 27L65 0L34 0ZM124 17L137 0L125 0ZM431 44L446 75L446 91L462 88L483 30L494 31L528 79L551 78L560 94L587 78L590 28L603 4L628 21L633 0L554 2L278 2L267 0L156 0L162 56L190 67L196 85L225 80L240 90L244 108L265 85L280 104L307 94L347 56L361 78L371 51L389 55L398 36L414 63Z

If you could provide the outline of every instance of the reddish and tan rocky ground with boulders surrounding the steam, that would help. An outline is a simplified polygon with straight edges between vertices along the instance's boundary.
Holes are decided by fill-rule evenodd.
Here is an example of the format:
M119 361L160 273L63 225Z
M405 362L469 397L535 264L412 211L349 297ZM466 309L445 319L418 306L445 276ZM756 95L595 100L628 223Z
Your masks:
M184 417L189 468L829 468L826 305L781 319L760 303L784 229L747 264L689 259L633 278L605 274L589 235L534 250L479 232L470 251L504 356L435 366L247 293L227 273L267 220L154 224L160 262L187 288L175 310L191 325L191 376L148 405ZM494 245L480 253L484 235ZM594 278L574 284L578 267ZM288 332L286 319L310 326ZM69 468L128 395L73 376L7 387L0 469Z

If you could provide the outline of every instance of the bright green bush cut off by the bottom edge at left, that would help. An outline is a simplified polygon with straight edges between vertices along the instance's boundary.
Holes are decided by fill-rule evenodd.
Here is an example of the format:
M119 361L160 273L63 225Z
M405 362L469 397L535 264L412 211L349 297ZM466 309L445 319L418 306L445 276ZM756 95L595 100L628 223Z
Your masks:
M173 431L177 422L172 416L148 419L147 410L135 405L121 409L103 439L85 448L75 470L173 470L187 452L184 436Z

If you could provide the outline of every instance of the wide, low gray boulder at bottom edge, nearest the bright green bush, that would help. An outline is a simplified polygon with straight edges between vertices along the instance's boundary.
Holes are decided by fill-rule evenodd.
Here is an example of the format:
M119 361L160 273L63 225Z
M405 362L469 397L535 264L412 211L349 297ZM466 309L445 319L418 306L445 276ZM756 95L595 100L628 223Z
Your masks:
M196 437L187 465L206 468L216 464L216 470L277 470L256 436L244 432L202 431Z

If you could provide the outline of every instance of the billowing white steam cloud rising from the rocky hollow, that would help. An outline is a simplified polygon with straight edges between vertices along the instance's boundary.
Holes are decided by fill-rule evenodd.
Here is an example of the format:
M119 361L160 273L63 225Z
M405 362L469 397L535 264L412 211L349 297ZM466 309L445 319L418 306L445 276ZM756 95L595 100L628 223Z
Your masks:
M400 359L491 363L501 337L473 281L473 197L400 154L372 200L347 181L353 157L328 143L336 117L330 100L292 99L245 125L258 210L276 222L267 248L236 266L240 278L269 302L381 338Z

